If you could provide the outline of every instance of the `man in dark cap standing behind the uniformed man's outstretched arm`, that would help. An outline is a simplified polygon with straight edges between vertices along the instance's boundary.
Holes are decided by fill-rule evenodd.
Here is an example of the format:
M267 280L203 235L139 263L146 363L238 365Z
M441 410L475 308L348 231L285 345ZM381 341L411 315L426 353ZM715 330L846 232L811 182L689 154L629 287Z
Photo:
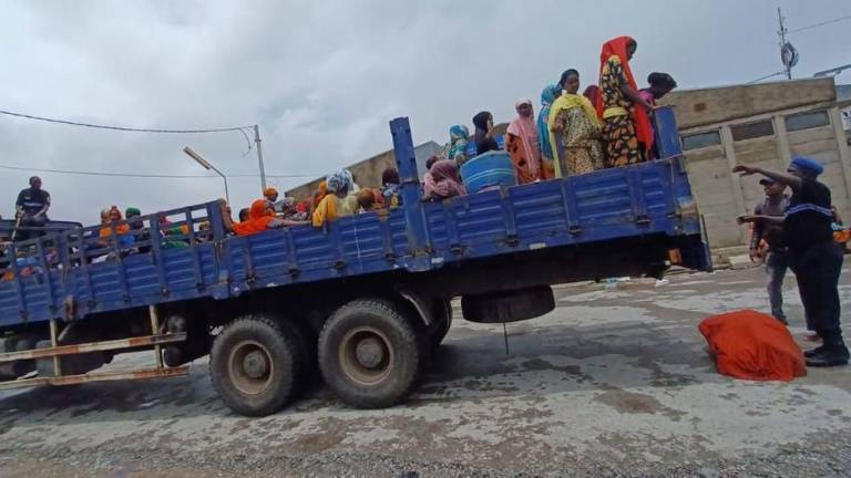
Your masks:
M789 196L786 185L773 179L759 180L766 191L766 199L753 207L756 216L772 216L782 218L789 207ZM789 268L788 250L783 245L783 227L773 224L755 222L750 233L750 260L762 254L762 241L768 245L762 259L766 263L766 282L768 301L771 304L771 315L785 324L789 324L783 313L783 278ZM810 325L809 323L807 324Z

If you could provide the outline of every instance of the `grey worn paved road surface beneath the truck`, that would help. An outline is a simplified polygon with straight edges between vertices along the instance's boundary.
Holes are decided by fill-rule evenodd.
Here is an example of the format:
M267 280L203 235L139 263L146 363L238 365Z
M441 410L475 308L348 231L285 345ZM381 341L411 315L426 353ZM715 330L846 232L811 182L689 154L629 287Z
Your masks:
M851 310L847 279L841 297ZM766 309L759 269L560 288L554 312L509 325L507 355L501 326L457 315L419 392L385 411L317 387L238 417L206 361L182 378L6 394L0 476L851 476L851 368L718 375L696 325L741 308Z

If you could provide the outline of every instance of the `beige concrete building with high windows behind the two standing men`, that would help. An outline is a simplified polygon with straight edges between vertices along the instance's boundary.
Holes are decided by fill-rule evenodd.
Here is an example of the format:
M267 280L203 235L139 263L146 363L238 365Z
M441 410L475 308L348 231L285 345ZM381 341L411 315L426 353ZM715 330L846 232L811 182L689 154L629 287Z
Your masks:
M686 165L710 247L738 253L748 230L736 224L763 197L757 178L730 173L737 164L785 169L796 155L824 164L824 181L843 218L851 218L851 155L832 79L678 91L674 105Z

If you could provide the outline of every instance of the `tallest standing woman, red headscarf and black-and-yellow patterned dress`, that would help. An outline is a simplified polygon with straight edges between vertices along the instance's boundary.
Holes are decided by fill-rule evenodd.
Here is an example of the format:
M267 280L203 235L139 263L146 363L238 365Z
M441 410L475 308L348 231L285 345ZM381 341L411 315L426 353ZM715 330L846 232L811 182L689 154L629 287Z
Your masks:
M606 165L640 163L653 147L653 128L647 115L653 106L642 98L629 69L638 43L618 37L603 44L599 55L599 100L597 114L603 119Z

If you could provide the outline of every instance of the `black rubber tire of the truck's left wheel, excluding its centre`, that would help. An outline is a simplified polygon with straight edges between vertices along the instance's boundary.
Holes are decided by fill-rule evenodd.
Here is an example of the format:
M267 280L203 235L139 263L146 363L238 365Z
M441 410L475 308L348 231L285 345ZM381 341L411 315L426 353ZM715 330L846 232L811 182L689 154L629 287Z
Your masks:
M245 341L260 344L271 363L269 378L257 393L240 389L229 372L230 355L237 352L235 347L244 346ZM209 354L211 380L225 405L246 416L265 416L286 406L303 381L305 349L299 341L290 326L281 326L265 316L245 316L225 325Z

